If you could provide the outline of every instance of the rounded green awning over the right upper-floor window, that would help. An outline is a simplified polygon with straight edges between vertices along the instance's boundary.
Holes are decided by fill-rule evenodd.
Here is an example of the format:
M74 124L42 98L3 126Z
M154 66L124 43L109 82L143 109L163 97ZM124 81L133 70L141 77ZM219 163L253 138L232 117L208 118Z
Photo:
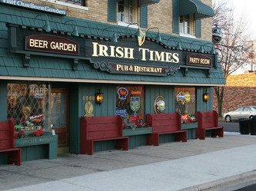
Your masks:
M214 16L213 9L199 0L179 0L179 13L180 16L194 14L195 19Z

